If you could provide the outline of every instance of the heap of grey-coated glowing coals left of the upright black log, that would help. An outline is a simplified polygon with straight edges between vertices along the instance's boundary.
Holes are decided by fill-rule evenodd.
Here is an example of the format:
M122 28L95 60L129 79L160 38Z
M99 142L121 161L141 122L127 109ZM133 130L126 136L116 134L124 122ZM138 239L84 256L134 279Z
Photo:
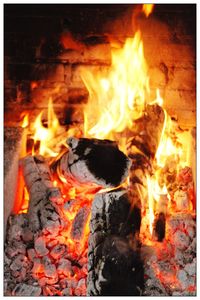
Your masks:
M63 227L28 229L27 214L10 216L4 256L5 296L85 296L87 248L66 246ZM47 227L48 228L48 227Z

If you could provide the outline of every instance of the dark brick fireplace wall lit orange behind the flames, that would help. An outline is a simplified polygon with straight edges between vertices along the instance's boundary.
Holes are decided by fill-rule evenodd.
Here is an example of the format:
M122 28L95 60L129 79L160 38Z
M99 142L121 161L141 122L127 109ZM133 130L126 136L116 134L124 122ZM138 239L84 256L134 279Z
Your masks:
M132 22L133 7L6 4L5 123L17 124L24 110L33 119L50 96L64 123L81 121L88 94L79 68L109 66L108 37L123 42L140 28L152 94L159 88L168 112L181 125L194 126L195 5L156 5L148 19L139 15ZM70 33L76 42L66 47L61 36Z

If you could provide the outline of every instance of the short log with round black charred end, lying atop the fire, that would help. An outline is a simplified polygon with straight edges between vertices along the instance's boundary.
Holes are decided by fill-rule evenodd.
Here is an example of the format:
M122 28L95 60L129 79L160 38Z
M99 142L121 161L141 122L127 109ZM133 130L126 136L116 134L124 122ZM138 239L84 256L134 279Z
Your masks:
M58 174L79 183L116 187L128 175L130 160L109 140L69 138L69 151L56 162ZM55 165L52 166L55 168Z

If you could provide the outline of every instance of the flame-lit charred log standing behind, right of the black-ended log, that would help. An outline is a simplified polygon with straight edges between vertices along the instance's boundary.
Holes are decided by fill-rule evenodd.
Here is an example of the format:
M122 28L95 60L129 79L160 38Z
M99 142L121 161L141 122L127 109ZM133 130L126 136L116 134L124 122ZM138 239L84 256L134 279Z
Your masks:
M147 176L153 173L153 160L160 142L164 125L164 111L155 105L147 105L144 115L134 122L127 145L130 168L130 198L141 221L141 210L147 206ZM146 195L145 195L146 194ZM137 232L139 233L140 226Z

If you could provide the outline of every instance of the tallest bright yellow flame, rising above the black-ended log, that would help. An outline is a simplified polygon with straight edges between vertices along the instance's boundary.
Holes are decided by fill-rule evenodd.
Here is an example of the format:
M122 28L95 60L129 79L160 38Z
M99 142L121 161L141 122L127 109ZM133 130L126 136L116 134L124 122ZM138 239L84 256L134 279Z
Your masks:
M84 132L88 137L114 138L114 133L131 128L143 113L149 93L147 64L140 32L128 38L121 49L112 50L108 70L92 73L82 69L89 91L84 110Z

